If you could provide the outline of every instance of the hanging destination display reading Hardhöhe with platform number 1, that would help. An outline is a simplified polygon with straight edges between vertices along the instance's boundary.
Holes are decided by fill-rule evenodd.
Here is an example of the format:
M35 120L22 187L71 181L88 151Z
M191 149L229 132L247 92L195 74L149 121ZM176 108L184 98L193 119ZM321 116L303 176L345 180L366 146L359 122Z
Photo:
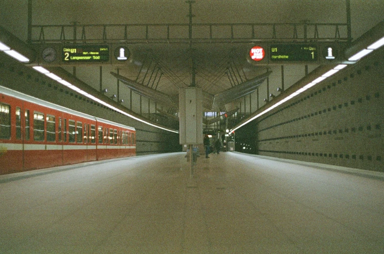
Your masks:
M314 44L272 44L271 61L317 61L318 48Z

